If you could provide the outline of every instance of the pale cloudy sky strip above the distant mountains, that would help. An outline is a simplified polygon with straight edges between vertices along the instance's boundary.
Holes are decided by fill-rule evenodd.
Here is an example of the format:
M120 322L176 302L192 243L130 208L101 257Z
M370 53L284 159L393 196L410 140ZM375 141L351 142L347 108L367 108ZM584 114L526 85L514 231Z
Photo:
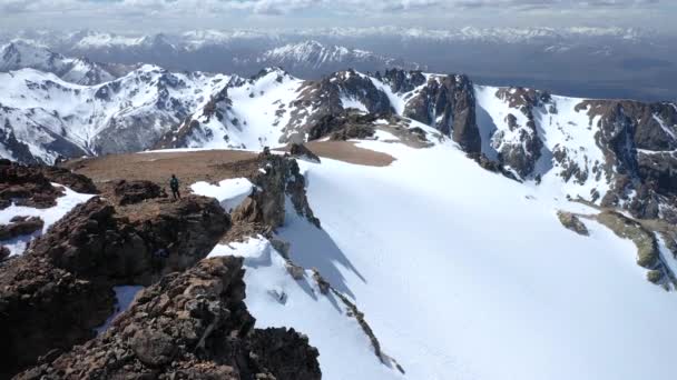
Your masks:
M677 33L675 0L0 0L3 29L636 27Z

